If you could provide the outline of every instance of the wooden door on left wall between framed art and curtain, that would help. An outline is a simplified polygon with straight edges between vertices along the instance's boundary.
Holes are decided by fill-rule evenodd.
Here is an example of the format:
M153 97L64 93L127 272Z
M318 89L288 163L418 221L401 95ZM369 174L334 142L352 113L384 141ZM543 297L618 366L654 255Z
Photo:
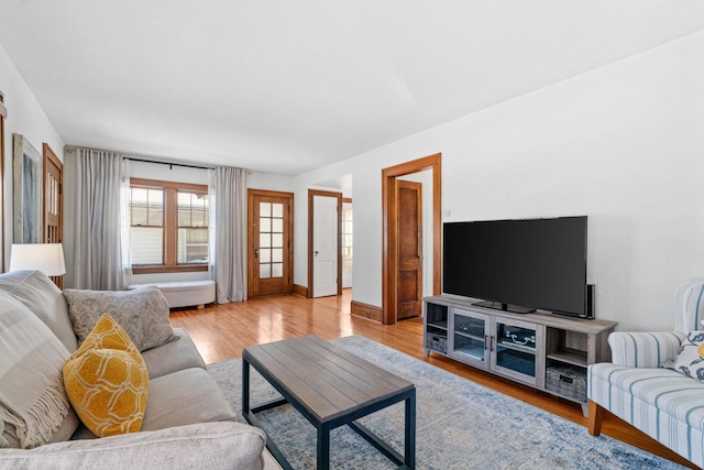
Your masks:
M63 185L64 185L64 165L56 156L48 144L43 145L43 163L44 163L44 210L43 212L43 233L44 243L63 243L64 242L64 204L63 204ZM54 284L58 288L64 288L63 276L52 276Z

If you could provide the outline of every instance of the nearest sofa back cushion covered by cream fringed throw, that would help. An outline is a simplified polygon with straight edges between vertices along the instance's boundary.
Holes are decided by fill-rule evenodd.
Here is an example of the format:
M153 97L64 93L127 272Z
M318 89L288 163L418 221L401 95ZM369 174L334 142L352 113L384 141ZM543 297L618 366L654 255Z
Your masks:
M66 347L48 327L0 292L0 447L54 439L69 413L62 379L66 358Z

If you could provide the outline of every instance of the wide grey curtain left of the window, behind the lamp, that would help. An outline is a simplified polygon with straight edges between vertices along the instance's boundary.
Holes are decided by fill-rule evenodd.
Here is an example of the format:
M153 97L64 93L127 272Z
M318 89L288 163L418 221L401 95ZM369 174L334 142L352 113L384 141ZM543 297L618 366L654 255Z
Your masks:
M129 162L117 153L74 147L66 152L66 170L74 182L67 198L74 237L66 286L122 291L131 276Z

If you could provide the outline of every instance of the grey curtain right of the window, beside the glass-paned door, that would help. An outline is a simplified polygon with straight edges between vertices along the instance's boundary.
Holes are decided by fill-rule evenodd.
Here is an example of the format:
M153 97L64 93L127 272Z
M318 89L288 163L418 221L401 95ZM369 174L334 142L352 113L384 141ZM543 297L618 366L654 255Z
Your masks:
M246 171L220 166L210 177L210 255L216 302L246 299Z

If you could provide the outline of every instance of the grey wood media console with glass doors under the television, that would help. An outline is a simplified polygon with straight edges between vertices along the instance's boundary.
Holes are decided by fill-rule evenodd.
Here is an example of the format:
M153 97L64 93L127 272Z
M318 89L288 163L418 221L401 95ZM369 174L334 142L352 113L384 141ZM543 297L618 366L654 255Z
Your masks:
M586 367L610 360L615 321L514 314L454 295L424 298L430 351L586 405Z

